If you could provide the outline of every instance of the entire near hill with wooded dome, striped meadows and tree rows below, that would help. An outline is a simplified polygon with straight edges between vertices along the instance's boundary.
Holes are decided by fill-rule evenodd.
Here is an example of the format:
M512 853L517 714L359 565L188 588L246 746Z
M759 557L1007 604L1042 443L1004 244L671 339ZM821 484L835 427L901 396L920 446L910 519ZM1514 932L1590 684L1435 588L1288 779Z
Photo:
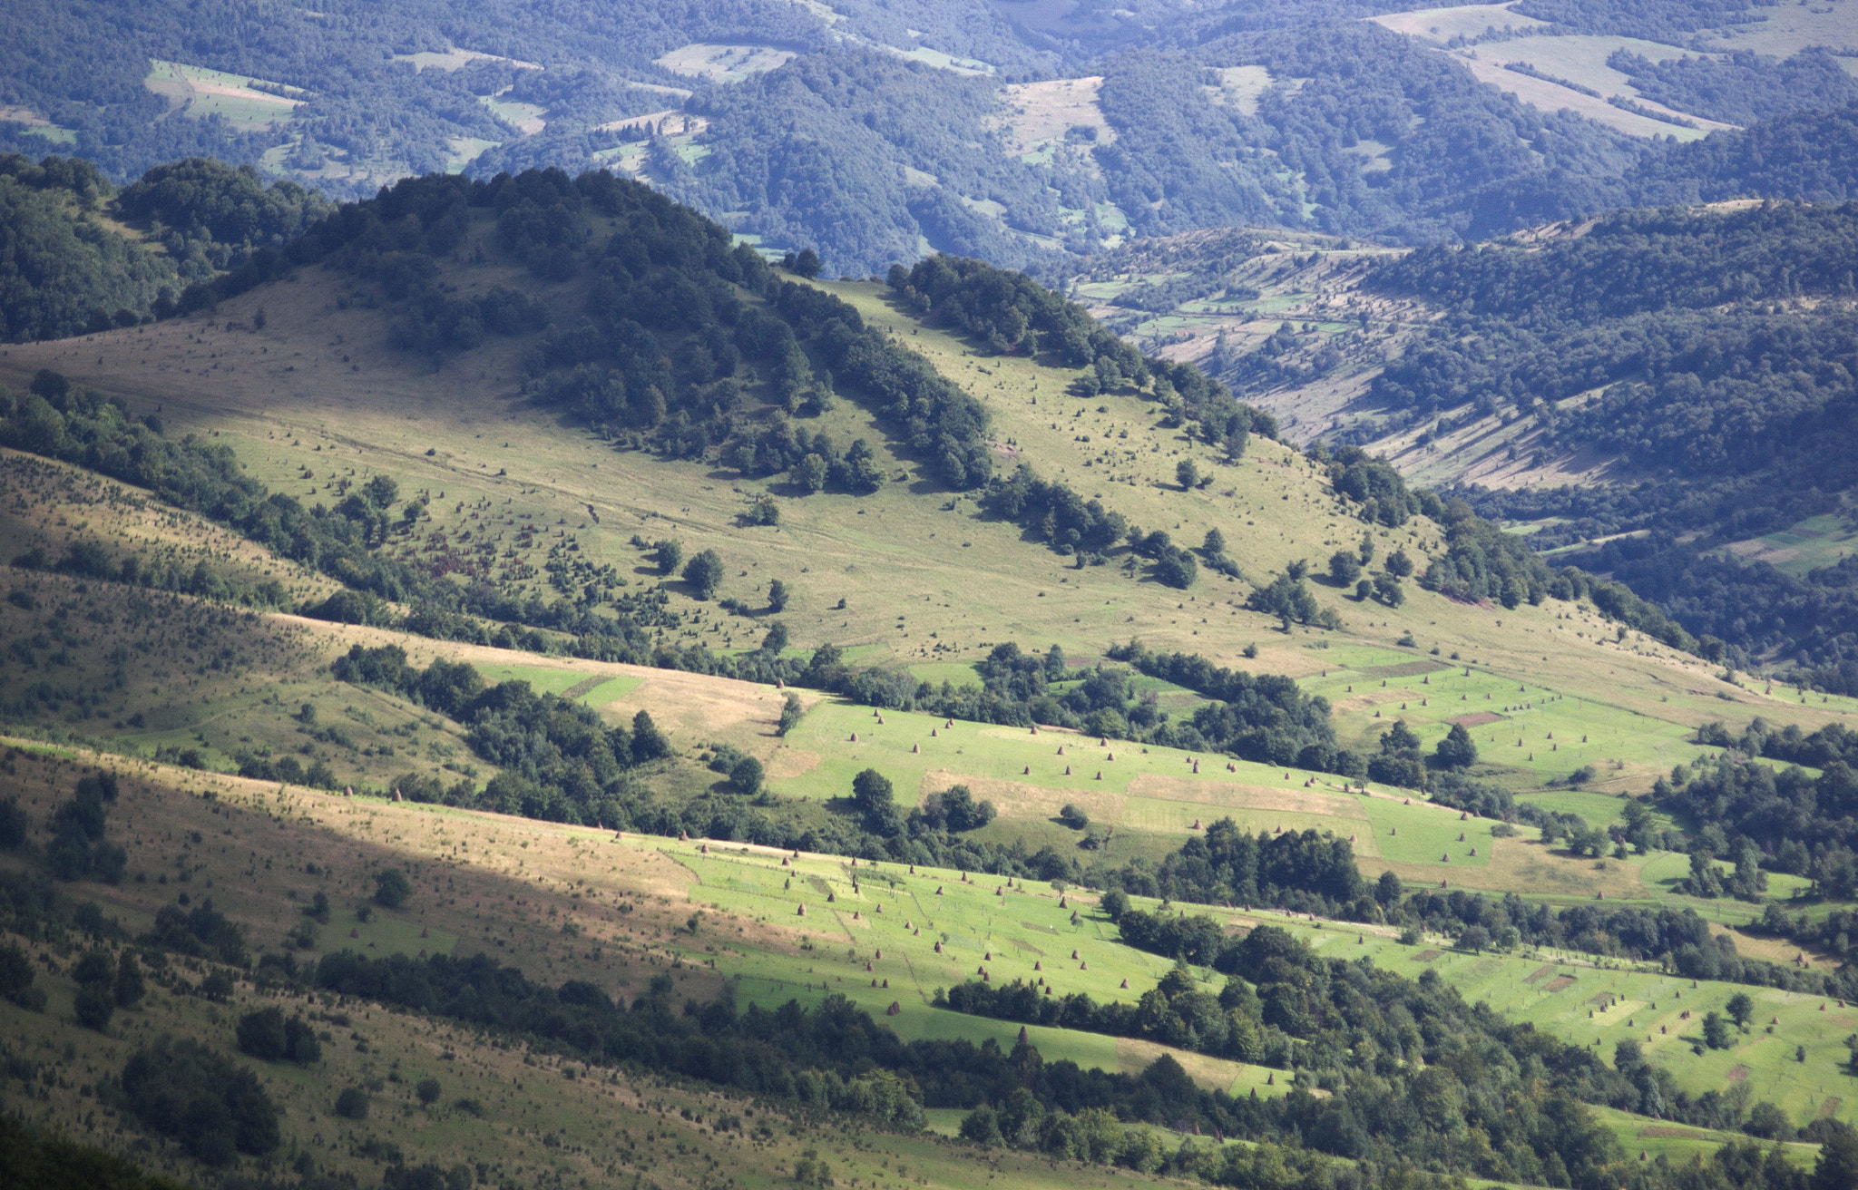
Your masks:
M1022 277L808 271L433 178L6 347L7 1103L305 1184L1838 1160L1843 835L1694 808L1830 813L1858 704ZM1366 1112L1438 1086L1503 1144Z

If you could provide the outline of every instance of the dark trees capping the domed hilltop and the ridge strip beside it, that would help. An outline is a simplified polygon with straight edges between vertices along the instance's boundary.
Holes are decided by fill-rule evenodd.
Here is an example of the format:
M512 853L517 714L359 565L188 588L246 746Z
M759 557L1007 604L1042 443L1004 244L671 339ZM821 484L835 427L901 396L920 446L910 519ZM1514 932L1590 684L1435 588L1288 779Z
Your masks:
M459 295L448 269L496 252L528 271L520 290ZM845 397L955 490L994 477L988 412L923 356L866 325L825 290L784 278L726 228L656 189L587 173L524 171L491 182L409 178L346 204L281 249L182 293L199 310L320 262L370 288L407 353L457 358L496 336L530 336L528 390L541 405L632 447L713 459L805 490L886 483L864 440L834 442L808 420ZM810 278L805 251L788 277ZM570 282L574 286L570 288ZM896 265L892 286L998 353L1052 353L1132 384L1210 442L1276 433L1191 364L1145 358L1020 273L975 260ZM572 303L572 304L569 304ZM385 592L383 592L385 594Z

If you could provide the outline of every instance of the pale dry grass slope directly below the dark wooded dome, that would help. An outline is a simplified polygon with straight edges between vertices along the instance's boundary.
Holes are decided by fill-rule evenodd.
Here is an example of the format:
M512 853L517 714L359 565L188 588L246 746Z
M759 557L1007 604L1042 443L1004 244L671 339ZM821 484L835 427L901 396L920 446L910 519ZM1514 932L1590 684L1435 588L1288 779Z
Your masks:
M98 336L97 345L104 347L106 355L106 364L100 369L91 364L95 355L76 355L78 345L50 349L41 345L33 351L43 351L50 356L46 362L54 362L72 375L108 375L110 388L139 392L143 401L152 395L150 390L162 392L167 401L184 401L186 405L178 412L175 405L169 405L165 416L203 431L225 427L236 433L234 446L249 460L249 470L256 473L262 468L262 477L279 490L292 490L290 485L305 468L318 475L327 472L331 464L353 466L357 473L368 473L370 466L390 470L399 473L409 486L427 483L444 486L446 507L435 507L435 522L431 524L433 529L446 531L478 524L453 520L448 514L448 509L459 503L461 494L494 498L502 511L533 512L544 524L570 518L569 525L585 522L585 503L598 503L604 509L604 524L570 529L570 533L582 542L583 553L591 561L611 561L630 574L637 574L639 557L617 540L630 531L647 535L671 531L686 537L687 546L715 546L732 570L738 568L738 563L741 570L749 570L751 583L760 583L762 576L769 574L782 576L790 583L797 579L799 598L786 620L801 642L821 639L875 642L897 659L942 661L949 655L974 657L981 652L983 642L990 644L1009 637L1022 640L1050 637L1063 642L1072 653L1085 655L1100 650L1104 640L1141 635L1150 646L1204 652L1221 665L1247 665L1250 668L1237 653L1243 644L1258 640L1263 644L1256 661L1258 668L1291 674L1314 672L1315 668L1315 659L1308 652L1278 648L1275 633L1265 631L1262 616L1254 618L1252 613L1236 605L1241 600L1213 598L1208 601L1208 596L1219 594L1208 583L1202 583L1202 589L1191 592L1187 600L1178 600L1169 598L1172 592L1161 592L1154 585L1109 579L1102 570L1070 572L1065 568L1065 561L1055 555L1048 555L1052 570L1042 572L1033 561L1039 553L1027 553L1026 544L1018 540L1020 535L1011 527L972 520L959 509L953 514L931 511L922 507L923 501L905 492L901 485L890 485L862 501L834 496L790 501L784 505L786 516L779 531L745 531L732 522L751 494L747 488L732 492L715 483L686 483L697 477L684 475L684 468L676 464L650 464L639 455L613 455L596 444L565 438L550 420L533 418L520 408L515 410L515 421L511 421L507 407L494 399L479 399L479 394L491 397L498 390L494 373L507 366L492 358L494 351L492 356L485 358L491 364L487 371L491 379L451 377L455 395L440 410L433 403L429 377L412 375L405 360L390 356L381 347L370 347L379 330L370 332L366 325L357 325L353 316L360 312L325 308L331 295L316 273L316 269L307 271L295 286L286 284L268 291L271 319L264 332L223 334L217 329L190 325L193 319L180 319L164 323L152 329L150 336L145 336L145 340L156 342L141 345L154 349L158 358L171 358L171 369L188 366L195 356L199 356L195 362L204 368L206 355L221 355L225 362L234 366L232 375L214 373L210 382L214 397L204 405L199 392L180 390L173 384L173 371L150 375L147 368L123 369L124 364L141 355L139 351L134 355L123 351L137 347L128 340ZM474 284L500 280L494 277L500 273L504 271L491 269ZM1289 455L1280 460L1275 444L1254 442L1245 464L1215 472L1221 477L1219 483L1234 485L1219 488L1234 492L1230 503L1226 498L1211 494L1180 494L1171 481L1176 457L1169 449L1193 453L1200 447L1154 436L1154 427L1148 423L1152 410L1145 410L1139 401L1132 397L1100 399L1111 414L1087 412L1083 425L1076 425L1076 418L1070 414L1089 407L1072 401L1050 405L1050 399L1068 382L1072 375L1068 369L1040 368L1018 358L977 360L966 355L957 340L933 329L922 329L914 319L892 310L883 301L884 290L881 288L853 284L831 288L853 301L864 317L907 336L909 345L931 356L944 373L972 386L979 397L987 399L1001 442L1018 444L1014 449L1046 473L1053 473L1057 468L1057 473L1072 483L1096 477L1098 470L1094 466L1083 470L1083 462L1102 457L1096 442L1100 440L1098 431L1111 434L1119 449L1122 444L1145 447L1135 451L1139 459L1120 457L1115 468L1102 473L1124 479L1120 488L1111 490L1106 485L1091 490L1113 496L1124 514L1146 525L1169 525L1171 533L1187 540L1204 533L1206 527L1221 527L1228 542L1236 542L1232 551L1247 572L1280 566L1286 557L1314 555L1321 559L1328 548L1358 542L1358 522L1345 514L1328 512L1334 505L1317 490L1321 481L1301 460L1293 460ZM320 290L323 291L320 293ZM320 297L321 303L316 304ZM236 306L249 301L255 299L247 295L247 299L229 303L227 314L236 314ZM284 332L284 327L294 327L294 330ZM182 336L182 329L197 334ZM305 336L305 330L312 334ZM325 334L327 338L323 338ZM349 373L347 366L342 371L327 366L333 362L327 356L334 355L327 343L334 342L336 336L346 340L340 347L342 355L360 353L357 360L366 364L362 373ZM203 342L191 342L193 338ZM264 355L253 351L260 345L269 345L271 351L301 347L303 356L294 364L297 375L279 375L273 364L266 364ZM20 351L13 353L13 356L19 355ZM318 369L314 356L325 356L316 377L318 386L301 390L301 399L288 405L286 421L279 416L282 407L271 399L275 384L282 384L286 390L301 386L303 381L297 377ZM111 358L117 362L110 364ZM334 360L340 360L340 355ZM988 375L977 371L979 368L987 368ZM190 371L197 371L197 368L190 368ZM268 384L260 394L251 386L253 373L258 373L258 379L271 379L275 384ZM1020 397L1035 395L1046 403L1033 407L1020 401ZM227 416L234 410L251 416ZM1059 412L1065 429L1053 433L1050 418L1035 420L1048 412ZM405 414L412 414L418 421L409 421ZM853 410L847 408L829 416L834 423L847 418L851 420L847 425L855 425L862 416L853 418ZM333 434L318 438L314 433L305 433L307 421L314 429L312 420L325 421ZM481 436L466 438L464 433L472 429ZM1083 436L1076 433L1078 429L1093 431L1089 434L1093 444L1074 442L1074 438ZM1132 438L1115 438L1124 429ZM327 449L314 449L336 444L338 436L344 442L334 459L327 455ZM446 447L446 453L427 459L424 451L431 449L435 440ZM505 440L511 444L509 447L500 446ZM366 446L357 449L355 444ZM518 464L517 475L496 475L498 470L507 470L507 464L513 462ZM1276 462L1284 466L1276 466ZM897 466L907 468L907 462L897 460ZM1213 466L1210 459L1206 466ZM1133 485L1128 483L1132 479ZM738 488L741 486L738 485ZM650 505L628 507L626 503L615 507L613 492L632 490L663 492L665 499L656 501L656 509ZM504 499L517 496L524 498L524 505L515 509L502 505ZM1291 496L1291 499L1286 501L1280 496ZM877 522L860 522L860 509L868 516L877 516ZM674 516L656 516L660 512ZM1256 524L1245 525L1245 520ZM860 533L860 524L868 524L870 531ZM1172 529L1176 524L1180 529ZM1382 537L1377 538L1382 555L1390 553L1395 544L1405 546L1408 553L1425 553L1421 527L1382 531ZM691 540L693 529L699 533L695 540ZM879 538L886 542L886 550L871 553L871 542ZM964 548L964 544L972 544L972 548ZM975 583L975 570L981 570L988 581ZM734 594L730 587L730 583L725 585L725 594ZM899 598L903 592L918 590L929 598L920 603L914 596ZM1040 590L1044 598L1039 598ZM845 611L831 607L838 594L849 596ZM1234 589L1236 594L1237 589ZM1321 598L1328 600L1330 596L1321 594ZM674 603L693 614L686 631L695 633L695 637L684 639L706 639L726 646L730 633L745 629L739 620L710 616L708 609L687 603L680 596L674 596ZM1544 666L1538 653L1525 652L1529 637L1518 639L1514 633L1514 624L1524 627L1533 624L1538 631L1548 627L1551 616L1540 609L1518 609L1496 616L1490 611L1455 605L1427 592L1416 592L1407 607L1397 611L1358 609L1353 600L1336 600L1336 605L1351 620L1349 635L1356 639L1392 644L1407 631L1420 637L1436 633L1447 650L1462 650L1483 665L1512 672L1563 670L1553 674L1557 685L1585 687L1596 676L1603 679L1628 678L1626 685L1635 694L1633 702L1641 705L1655 704L1659 687L1668 691L1702 685L1702 678L1676 678L1667 665L1655 663L1652 655L1633 655L1631 670L1615 674L1596 674L1585 657L1579 665L1568 665L1574 655L1566 652L1557 659L1557 665ZM1198 614L1182 614L1189 607ZM834 611L838 614L832 614ZM899 611L909 613L901 631L897 626ZM702 618L695 618L697 614ZM1364 614L1373 618L1362 622ZM1496 618L1503 618L1505 626L1511 626L1509 631L1494 629ZM1652 652L1663 655L1661 650ZM1620 659L1624 661L1624 655ZM1672 674L1674 679L1667 674ZM1544 678L1548 676L1544 674Z

